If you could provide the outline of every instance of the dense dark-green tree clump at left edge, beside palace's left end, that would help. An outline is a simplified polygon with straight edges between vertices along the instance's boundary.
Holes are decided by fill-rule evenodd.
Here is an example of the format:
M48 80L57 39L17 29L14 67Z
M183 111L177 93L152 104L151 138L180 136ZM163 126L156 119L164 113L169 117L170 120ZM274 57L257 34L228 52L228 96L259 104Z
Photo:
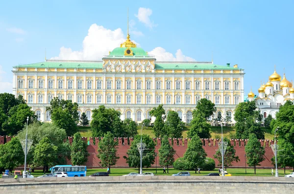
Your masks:
M23 129L27 117L28 124L37 118L25 103L23 96L16 98L13 94L0 94L0 135L16 135Z

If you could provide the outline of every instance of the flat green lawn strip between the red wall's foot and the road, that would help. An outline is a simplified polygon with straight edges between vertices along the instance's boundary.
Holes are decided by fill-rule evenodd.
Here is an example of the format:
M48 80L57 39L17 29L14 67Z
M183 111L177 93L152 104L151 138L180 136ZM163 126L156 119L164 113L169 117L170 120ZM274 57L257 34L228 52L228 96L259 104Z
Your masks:
M87 175L91 175L95 172L106 172L107 168L99 168L99 169L87 169ZM135 168L111 168L111 176L122 176L124 174L128 174L130 172L137 172L138 169ZM167 168L166 168L167 171ZM256 169L256 175L254 174L254 169L253 168L247 168L246 169L247 174L245 174L245 169L244 168L227 168L227 172L231 173L233 176L272 176L271 175L271 169ZM173 168L169 168L169 173L162 173L163 168L158 167L157 168L157 173L156 173L156 168L149 168L149 169L143 169L144 172L153 172L155 175L172 175L177 172L183 172L179 170L174 170ZM210 172L219 172L218 168L216 168L214 171L200 171L200 174L195 171L189 171L191 175L196 175L196 176L203 176L206 175ZM286 170L286 174L290 174L292 172L291 170ZM49 172L48 172L49 173ZM35 172L31 173L35 177L43 175L43 172L41 170L36 170ZM281 169L279 170L279 175L284 176L284 170Z

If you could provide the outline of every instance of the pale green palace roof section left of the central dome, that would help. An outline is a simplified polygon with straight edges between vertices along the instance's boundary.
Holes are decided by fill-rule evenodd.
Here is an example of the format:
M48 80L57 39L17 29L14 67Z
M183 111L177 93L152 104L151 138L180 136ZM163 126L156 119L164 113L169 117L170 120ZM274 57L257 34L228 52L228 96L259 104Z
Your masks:
M14 67L34 67L34 68L102 68L102 62L40 62L28 65L17 65Z

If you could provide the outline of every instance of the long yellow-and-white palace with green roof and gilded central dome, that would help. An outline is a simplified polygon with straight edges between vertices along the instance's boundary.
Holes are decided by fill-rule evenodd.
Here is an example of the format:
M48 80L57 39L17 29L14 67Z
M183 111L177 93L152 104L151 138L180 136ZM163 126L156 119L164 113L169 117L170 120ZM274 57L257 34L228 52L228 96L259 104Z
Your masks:
M46 60L13 67L13 94L23 95L40 121L54 97L72 100L91 119L100 105L140 123L159 104L190 123L197 101L206 98L232 117L244 101L244 69L213 62L159 62L131 42L129 35L102 61Z

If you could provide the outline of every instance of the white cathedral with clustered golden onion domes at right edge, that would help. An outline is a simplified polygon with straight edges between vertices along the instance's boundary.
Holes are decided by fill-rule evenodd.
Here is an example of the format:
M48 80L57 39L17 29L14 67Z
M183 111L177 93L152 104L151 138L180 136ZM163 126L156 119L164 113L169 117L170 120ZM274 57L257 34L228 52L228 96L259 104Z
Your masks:
M269 77L269 82L261 84L258 89L258 96L254 95L252 90L248 93L248 100L255 101L263 118L267 118L269 114L272 118L279 111L281 105L284 105L287 100L294 102L293 84L286 79L284 73L283 79L276 70Z

